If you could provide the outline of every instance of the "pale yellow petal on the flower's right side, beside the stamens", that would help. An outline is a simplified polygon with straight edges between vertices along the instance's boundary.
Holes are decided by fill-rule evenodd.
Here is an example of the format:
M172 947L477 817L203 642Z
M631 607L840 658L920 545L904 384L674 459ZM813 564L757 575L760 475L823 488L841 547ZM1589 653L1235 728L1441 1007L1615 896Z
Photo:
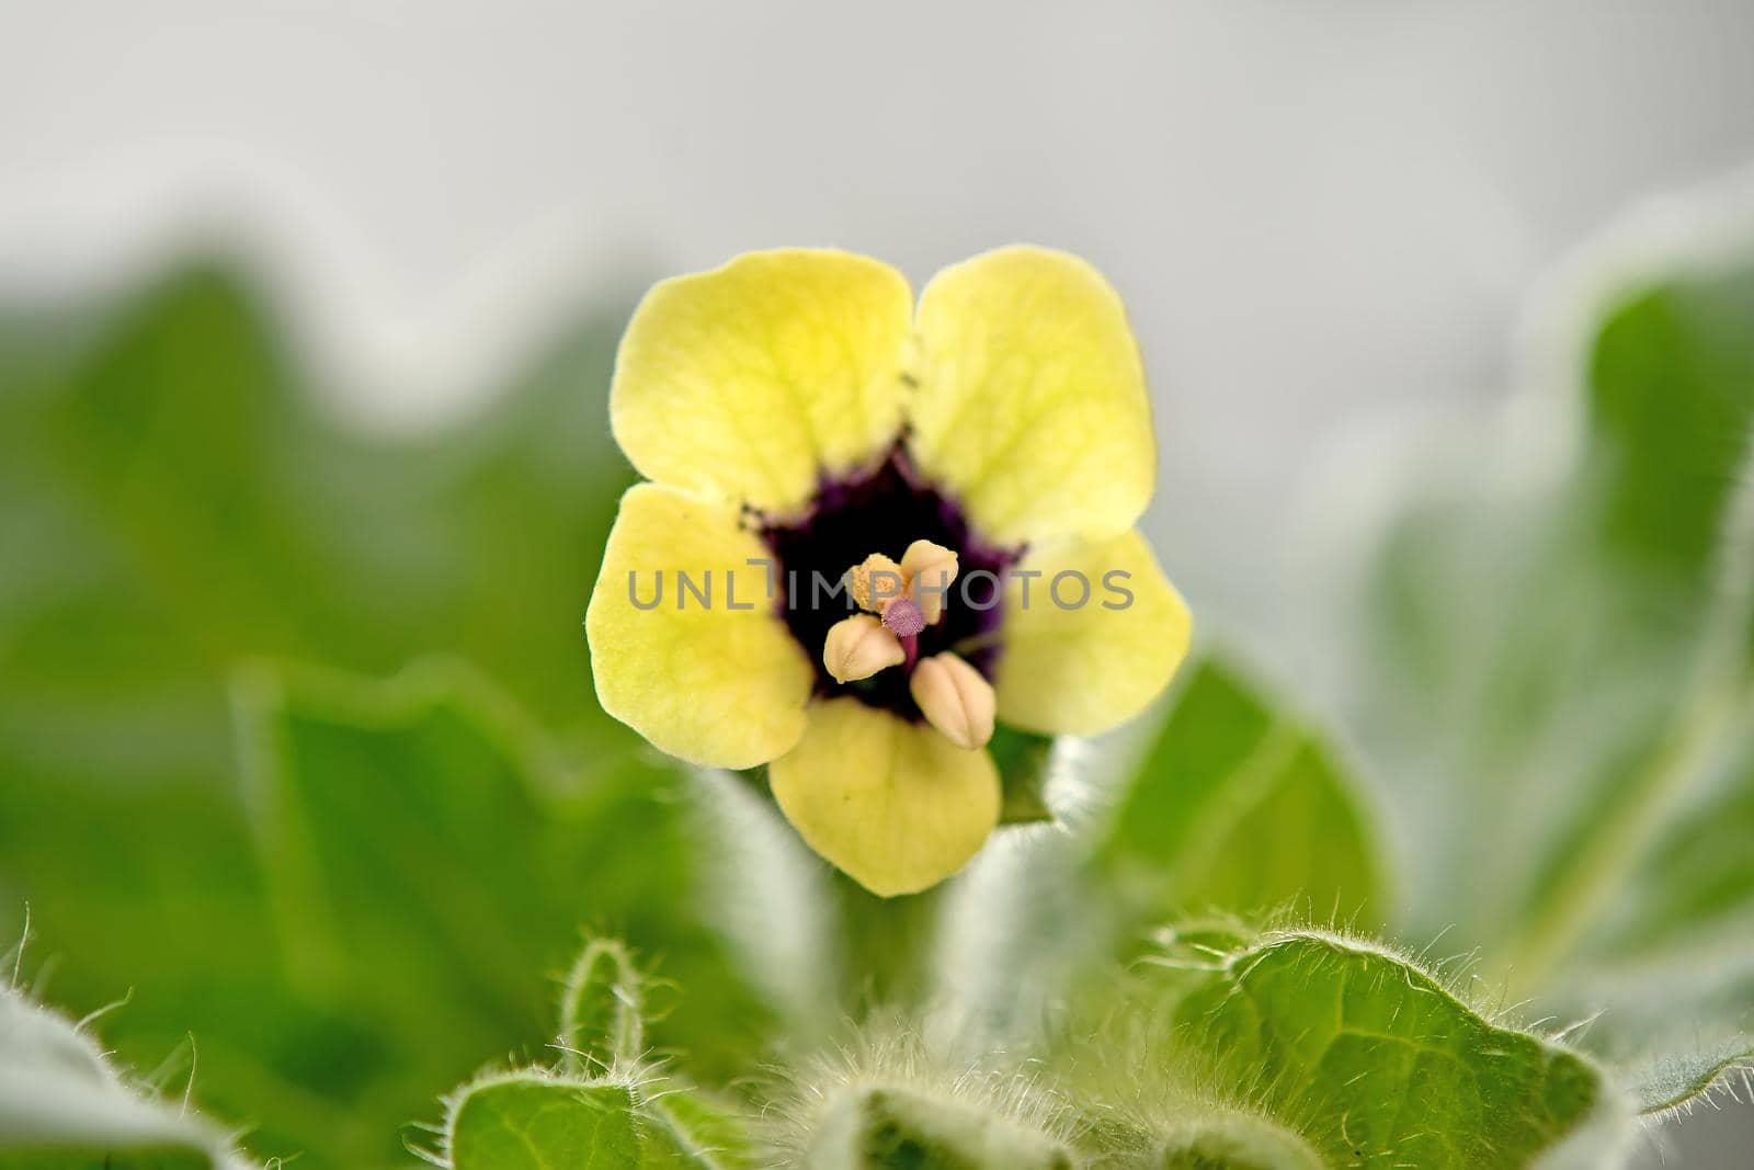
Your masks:
M1107 731L1163 693L1191 633L1137 531L1031 553L1005 589L998 717L1044 735Z

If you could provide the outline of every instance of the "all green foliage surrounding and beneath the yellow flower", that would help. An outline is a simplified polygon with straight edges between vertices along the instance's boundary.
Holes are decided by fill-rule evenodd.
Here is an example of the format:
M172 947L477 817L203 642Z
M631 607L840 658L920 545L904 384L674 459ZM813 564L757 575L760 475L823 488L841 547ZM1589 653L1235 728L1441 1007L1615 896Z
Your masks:
M0 1165L42 1051L70 1166L223 1165L184 1086L314 1168L1601 1165L1750 1056L1754 263L1591 312L1572 447L1386 486L1338 730L1209 651L1131 737L1007 733L1007 828L889 902L593 702L619 314L395 437L225 265L0 314L0 931L126 998L112 1067L5 993Z

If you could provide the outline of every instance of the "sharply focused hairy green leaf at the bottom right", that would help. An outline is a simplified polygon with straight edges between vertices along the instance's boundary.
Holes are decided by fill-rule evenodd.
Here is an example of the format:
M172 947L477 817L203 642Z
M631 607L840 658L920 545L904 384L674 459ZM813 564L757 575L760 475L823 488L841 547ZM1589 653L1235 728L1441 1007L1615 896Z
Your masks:
M1165 960L1145 981L1168 996L1161 1059L1326 1165L1600 1165L1628 1124L1586 1058L1482 1019L1373 945L1275 931L1203 963Z

